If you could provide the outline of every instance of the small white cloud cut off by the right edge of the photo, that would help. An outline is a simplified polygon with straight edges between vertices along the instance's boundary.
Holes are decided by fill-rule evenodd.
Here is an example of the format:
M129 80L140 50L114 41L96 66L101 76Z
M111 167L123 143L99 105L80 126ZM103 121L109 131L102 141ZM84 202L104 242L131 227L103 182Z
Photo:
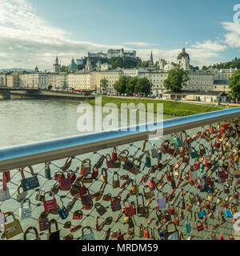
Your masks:
M227 31L224 35L226 44L232 48L240 47L240 24L234 22L222 22L222 26Z

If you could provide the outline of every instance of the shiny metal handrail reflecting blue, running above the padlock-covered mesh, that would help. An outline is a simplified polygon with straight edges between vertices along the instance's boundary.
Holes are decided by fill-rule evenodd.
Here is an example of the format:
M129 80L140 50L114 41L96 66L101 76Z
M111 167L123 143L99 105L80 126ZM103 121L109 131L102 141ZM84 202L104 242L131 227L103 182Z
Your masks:
M236 117L240 117L240 107L140 124L134 131L131 130L132 127L127 127L126 131L109 130L10 146L0 149L0 172L142 141L149 138L150 134L153 136L154 131L162 127L163 135L166 135ZM149 128L153 126L155 126L154 130ZM142 132L143 128L146 128L146 131Z

